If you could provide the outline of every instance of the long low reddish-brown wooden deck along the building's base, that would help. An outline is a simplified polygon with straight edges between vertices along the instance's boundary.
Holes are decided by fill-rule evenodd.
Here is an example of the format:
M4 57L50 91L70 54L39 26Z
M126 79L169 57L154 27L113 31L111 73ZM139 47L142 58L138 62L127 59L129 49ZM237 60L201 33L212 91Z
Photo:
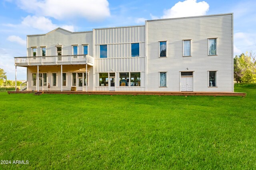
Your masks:
M36 91L8 91L8 94L36 93ZM84 91L43 91L44 94L99 94L99 95L158 95L158 96L246 96L236 92L84 92Z

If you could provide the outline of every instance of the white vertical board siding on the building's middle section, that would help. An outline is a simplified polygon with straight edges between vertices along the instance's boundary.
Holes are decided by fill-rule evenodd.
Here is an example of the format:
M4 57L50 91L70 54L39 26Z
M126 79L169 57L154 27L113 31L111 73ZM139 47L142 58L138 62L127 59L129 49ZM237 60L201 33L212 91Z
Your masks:
M96 91L99 72L116 72L116 91L145 91L145 26L94 29L94 72ZM140 57L131 57L131 43L140 43ZM108 58L100 59L100 45L108 45ZM141 72L141 87L119 87L119 72Z

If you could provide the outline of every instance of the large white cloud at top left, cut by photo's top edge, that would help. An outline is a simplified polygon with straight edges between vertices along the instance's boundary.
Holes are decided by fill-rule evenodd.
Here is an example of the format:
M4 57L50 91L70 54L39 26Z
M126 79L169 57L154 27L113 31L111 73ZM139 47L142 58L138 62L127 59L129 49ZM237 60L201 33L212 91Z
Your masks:
M107 0L18 0L21 9L58 20L82 17L90 21L110 16Z

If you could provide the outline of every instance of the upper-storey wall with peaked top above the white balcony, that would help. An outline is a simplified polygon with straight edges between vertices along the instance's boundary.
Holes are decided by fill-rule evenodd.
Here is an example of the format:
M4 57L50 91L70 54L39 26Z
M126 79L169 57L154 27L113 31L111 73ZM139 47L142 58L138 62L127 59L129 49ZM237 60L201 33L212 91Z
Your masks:
M88 55L92 56L92 31L70 32L62 28L41 35L28 35L27 56L42 56L42 48L46 49L46 56L57 55L57 48L62 47L62 55L73 55L73 45L78 47L78 55L83 54L83 46L88 45Z

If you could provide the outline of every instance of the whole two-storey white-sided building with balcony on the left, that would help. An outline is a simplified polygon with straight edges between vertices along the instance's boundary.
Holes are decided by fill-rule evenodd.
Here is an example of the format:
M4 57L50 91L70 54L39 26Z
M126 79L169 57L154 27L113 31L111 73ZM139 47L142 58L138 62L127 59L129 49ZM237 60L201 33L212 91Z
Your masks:
M21 90L233 92L233 14L27 36Z

